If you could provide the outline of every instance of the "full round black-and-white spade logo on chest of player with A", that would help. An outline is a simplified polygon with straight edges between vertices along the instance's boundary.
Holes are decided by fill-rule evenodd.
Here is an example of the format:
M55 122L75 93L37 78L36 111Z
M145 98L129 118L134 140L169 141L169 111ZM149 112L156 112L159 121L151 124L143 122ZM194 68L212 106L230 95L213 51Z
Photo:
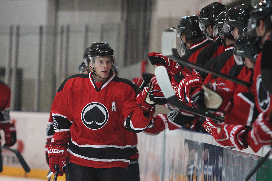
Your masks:
M81 120L89 129L100 129L108 121L108 110L101 103L89 103L82 110Z

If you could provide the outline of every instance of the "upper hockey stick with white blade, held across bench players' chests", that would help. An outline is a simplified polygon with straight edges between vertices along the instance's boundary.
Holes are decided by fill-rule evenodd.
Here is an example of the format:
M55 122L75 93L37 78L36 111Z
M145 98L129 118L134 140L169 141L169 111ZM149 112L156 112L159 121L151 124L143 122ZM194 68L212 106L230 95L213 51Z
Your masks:
M168 30L168 31L170 31L170 30ZM223 74L223 73L221 73L219 71L215 71L215 70L206 68L206 67L204 67L202 65L194 64L192 62L187 62L187 61L181 59L180 56L176 55L176 53L177 53L176 43L173 43L174 41L176 41L176 37L173 36L173 34L174 33L164 33L163 34L164 37L162 38L162 40L168 40L168 41L165 41L165 43L161 43L161 50L162 50L162 52L165 52L165 54L163 53L165 56L167 56L168 58L172 59L173 61L176 61L176 62L178 62L178 63L180 63L180 64L182 64L182 65L184 65L186 67L188 67L188 66L189 67L194 67L194 68L198 69L199 71L210 73L210 74L215 75L217 77L222 77L224 79L230 80L230 81L235 82L237 84L241 84L241 85L244 85L244 86L247 86L247 87L251 86L251 84L249 82L242 81L242 80L240 80L238 78L231 77L231 76ZM167 43L169 43L169 44L167 44ZM175 46L175 47L173 47L173 46ZM172 47L172 48L170 49L169 47Z

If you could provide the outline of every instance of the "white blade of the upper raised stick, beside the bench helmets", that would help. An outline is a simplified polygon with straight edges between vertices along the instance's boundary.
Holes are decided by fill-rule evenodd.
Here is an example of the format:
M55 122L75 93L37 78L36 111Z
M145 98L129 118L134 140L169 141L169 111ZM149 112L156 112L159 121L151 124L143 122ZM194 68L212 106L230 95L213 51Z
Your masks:
M170 29L163 31L161 35L161 47L164 47L161 49L162 54L164 54L165 56L173 55L172 46L174 40L176 42L176 31Z

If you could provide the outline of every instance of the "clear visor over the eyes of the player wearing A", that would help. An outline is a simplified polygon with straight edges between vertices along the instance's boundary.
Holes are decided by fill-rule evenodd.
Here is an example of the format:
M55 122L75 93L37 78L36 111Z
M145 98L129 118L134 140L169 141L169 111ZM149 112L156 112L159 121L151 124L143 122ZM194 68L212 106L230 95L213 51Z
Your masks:
M115 56L96 56L91 57L92 67L109 67L115 65Z

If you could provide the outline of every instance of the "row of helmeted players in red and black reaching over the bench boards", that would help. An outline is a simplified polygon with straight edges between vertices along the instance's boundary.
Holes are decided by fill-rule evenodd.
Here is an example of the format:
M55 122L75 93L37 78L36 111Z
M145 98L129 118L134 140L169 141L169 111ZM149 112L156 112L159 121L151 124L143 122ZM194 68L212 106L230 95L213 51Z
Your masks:
M150 134L166 127L170 130L185 127L208 132L228 148L250 147L257 152L263 145L270 145L272 106L265 85L272 80L263 82L261 61L271 57L271 32L270 0L262 0L255 7L242 4L229 10L215 2L202 8L199 17L183 17L177 27L181 59L246 81L251 86L196 69L190 71L163 54L149 53L152 65L166 67L173 90L182 103L225 120L217 122L166 104L172 110L167 115L159 114L162 119L155 119Z

